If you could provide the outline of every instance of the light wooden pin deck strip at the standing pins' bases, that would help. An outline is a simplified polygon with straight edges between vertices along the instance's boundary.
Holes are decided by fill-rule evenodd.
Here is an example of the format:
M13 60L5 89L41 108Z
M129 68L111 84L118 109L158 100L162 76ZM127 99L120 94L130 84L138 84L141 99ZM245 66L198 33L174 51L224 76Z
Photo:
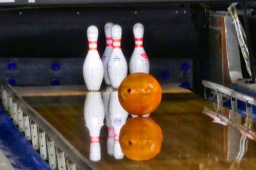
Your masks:
M174 84L161 85L163 93L172 94L189 94L190 90L183 89ZM85 85L69 85L69 86L42 86L42 87L14 87L18 94L22 97L36 96L81 96L86 95ZM100 89L104 91L106 87Z

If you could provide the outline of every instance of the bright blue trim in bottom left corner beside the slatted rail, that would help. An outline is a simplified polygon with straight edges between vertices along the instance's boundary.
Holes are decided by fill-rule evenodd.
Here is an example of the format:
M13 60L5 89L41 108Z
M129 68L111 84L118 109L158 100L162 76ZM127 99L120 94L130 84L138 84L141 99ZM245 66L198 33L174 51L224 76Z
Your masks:
M0 148L14 169L50 170L0 106Z

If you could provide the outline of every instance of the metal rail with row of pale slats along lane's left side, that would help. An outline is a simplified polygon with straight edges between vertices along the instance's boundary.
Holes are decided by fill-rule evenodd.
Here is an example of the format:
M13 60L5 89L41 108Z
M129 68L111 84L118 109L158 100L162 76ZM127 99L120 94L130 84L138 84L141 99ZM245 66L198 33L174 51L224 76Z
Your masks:
M31 108L5 80L1 81L1 98L3 108L12 118L13 124L19 127L52 169L93 169L90 161Z

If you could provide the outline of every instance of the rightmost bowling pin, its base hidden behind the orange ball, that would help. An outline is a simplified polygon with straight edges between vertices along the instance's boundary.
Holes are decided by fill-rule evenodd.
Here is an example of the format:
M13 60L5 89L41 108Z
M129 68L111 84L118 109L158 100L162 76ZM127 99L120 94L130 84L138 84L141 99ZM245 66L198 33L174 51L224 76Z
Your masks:
M135 48L129 64L130 73L149 73L149 61L143 48L144 27L141 23L133 26Z

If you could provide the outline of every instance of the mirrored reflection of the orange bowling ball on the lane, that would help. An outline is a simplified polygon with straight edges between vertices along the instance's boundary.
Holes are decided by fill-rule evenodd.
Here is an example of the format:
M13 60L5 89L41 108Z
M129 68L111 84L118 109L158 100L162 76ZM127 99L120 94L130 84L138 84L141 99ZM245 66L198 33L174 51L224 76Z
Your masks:
M148 160L161 150L163 135L154 120L145 117L130 118L119 136L124 155L132 160Z

